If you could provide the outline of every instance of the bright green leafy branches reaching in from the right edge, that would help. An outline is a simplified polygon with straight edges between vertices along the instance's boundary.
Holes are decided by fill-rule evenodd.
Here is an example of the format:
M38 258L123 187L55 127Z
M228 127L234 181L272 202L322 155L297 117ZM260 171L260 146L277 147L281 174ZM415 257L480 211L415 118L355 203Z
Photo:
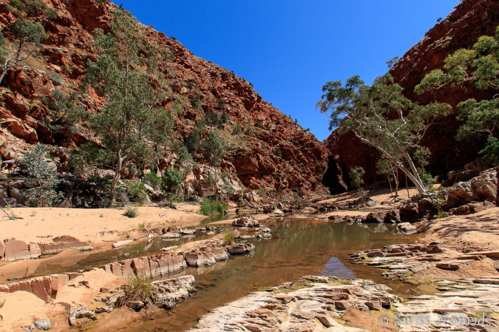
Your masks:
M442 69L428 73L415 92L422 94L445 85L463 85L473 82L477 89L499 90L499 27L495 36L481 36L472 49L460 49L449 55ZM499 101L496 98L477 102L469 99L458 104L458 119L463 125L457 139L476 139L488 135L486 147L480 151L487 164L499 163L497 135L499 128Z

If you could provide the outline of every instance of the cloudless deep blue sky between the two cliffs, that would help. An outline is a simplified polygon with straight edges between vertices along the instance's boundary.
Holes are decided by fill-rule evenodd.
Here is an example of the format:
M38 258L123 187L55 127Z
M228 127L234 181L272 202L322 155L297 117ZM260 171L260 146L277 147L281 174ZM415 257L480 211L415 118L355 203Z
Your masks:
M194 55L233 70L323 140L328 118L315 110L322 85L356 74L371 83L459 0L115 2Z

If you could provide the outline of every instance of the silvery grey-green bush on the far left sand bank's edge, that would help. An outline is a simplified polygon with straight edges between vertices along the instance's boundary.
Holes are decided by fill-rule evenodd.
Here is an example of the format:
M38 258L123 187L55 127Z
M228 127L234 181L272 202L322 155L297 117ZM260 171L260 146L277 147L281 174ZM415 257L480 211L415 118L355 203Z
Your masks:
M26 175L24 193L26 203L32 207L49 207L63 198L55 191L59 183L53 164L47 163L47 148L43 144L33 146L21 159L21 173Z

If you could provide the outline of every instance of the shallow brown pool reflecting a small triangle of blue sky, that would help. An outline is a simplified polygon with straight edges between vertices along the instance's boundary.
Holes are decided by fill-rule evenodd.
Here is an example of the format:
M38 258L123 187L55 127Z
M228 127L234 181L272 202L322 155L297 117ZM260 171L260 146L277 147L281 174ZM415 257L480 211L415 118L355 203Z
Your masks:
M353 264L349 254L388 244L413 242L420 235L394 234L389 225L331 223L318 220L263 221L275 238L251 241L256 251L234 256L211 268L189 268L183 274L196 277L198 292L172 311L134 321L119 331L185 331L209 310L253 291L304 275L365 278L384 283L403 293L410 285L389 281L371 266Z

